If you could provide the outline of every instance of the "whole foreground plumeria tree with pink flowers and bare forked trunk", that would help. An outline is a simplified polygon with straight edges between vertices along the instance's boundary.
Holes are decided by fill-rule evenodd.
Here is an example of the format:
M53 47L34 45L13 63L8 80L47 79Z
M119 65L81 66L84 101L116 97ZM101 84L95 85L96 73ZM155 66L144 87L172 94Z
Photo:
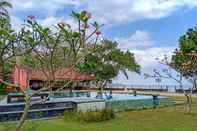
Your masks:
M27 23L21 29L22 33L20 32L18 34L22 42L18 39L14 39L13 45L22 44L24 46L19 48L21 51L14 50L14 52L11 52L9 55L15 57L17 54L16 51L22 53L30 48L31 50L28 50L29 54L25 55L26 57L17 57L20 61L20 65L28 66L32 69L40 69L46 78L45 86L33 92L31 95L29 95L26 90L23 90L24 88L21 85L14 85L3 80L3 78L0 79L1 83L19 88L25 95L25 109L17 131L22 129L29 109L35 104L35 102L31 102L31 97L43 90L48 90L50 94L52 93L52 87L57 83L55 78L56 71L64 67L75 68L77 64L84 62L87 55L95 51L91 48L91 44L97 44L99 36L101 35L99 30L101 26L98 25L97 22L93 22L93 24L90 25L89 19L91 18L91 14L87 11L79 13L72 12L72 16L78 23L78 29L73 29L68 23L61 21L55 26L56 29L53 30L40 25L36 21L35 16L28 16ZM4 33L3 35L5 35L4 39L7 41L7 34ZM8 46L7 49L10 51L12 49L11 47ZM8 55L6 55L6 57L7 56ZM31 59L28 59L28 57ZM66 84L70 82L71 81L66 81L66 83L62 85L62 88L58 90L63 89ZM36 103L45 102L47 99L48 98Z

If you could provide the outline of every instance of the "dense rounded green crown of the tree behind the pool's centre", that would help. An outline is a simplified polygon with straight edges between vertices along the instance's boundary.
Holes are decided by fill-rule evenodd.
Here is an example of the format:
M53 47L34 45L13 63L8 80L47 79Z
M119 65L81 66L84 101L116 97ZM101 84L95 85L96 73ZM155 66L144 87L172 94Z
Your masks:
M95 51L77 67L82 72L94 75L97 82L110 82L119 71L122 71L127 78L127 70L139 72L140 67L134 55L129 51L121 51L118 43L103 40L99 45L92 45L92 48Z

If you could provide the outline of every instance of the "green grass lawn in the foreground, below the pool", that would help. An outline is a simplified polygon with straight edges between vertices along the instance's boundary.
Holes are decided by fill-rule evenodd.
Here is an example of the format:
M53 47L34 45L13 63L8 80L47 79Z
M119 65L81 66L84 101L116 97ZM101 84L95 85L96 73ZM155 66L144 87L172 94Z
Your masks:
M61 118L28 122L38 131L196 131L197 99L193 113L184 114L184 106L165 107L116 114L116 118L99 123L66 121Z

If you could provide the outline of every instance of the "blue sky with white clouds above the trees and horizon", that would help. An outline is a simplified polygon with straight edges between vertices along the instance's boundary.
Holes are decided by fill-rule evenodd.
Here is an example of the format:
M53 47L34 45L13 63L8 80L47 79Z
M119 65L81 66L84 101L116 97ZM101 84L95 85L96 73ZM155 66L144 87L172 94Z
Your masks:
M188 28L197 26L197 0L10 0L13 28L19 29L28 15L34 15L45 26L66 21L76 26L70 17L72 10L86 10L93 19L104 24L102 38L115 40L122 50L135 53L141 71L152 73L165 68L156 58L171 56L178 48L178 39ZM175 73L174 73L175 74ZM143 75L122 73L114 79L122 84L158 84ZM162 80L160 84L173 84ZM187 82L186 82L187 84Z

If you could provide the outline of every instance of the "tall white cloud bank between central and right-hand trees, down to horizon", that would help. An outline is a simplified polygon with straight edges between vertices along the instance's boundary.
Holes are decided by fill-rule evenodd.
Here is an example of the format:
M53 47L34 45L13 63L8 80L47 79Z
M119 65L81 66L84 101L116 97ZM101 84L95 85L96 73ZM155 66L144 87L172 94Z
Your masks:
M135 54L137 63L141 66L141 72L152 74L153 69L165 68L161 66L156 58L163 59L164 55L169 58L172 55L175 47L159 47L151 37L150 33L146 30L137 30L134 34L131 34L128 38L119 38L119 47L122 50L131 50ZM118 77L113 80L113 83L124 84L158 84L154 79L144 79L143 75L138 75L133 72L129 72L129 79L127 80L123 73L120 73ZM163 80L162 83L173 83L172 80ZM161 83L160 83L161 84Z

